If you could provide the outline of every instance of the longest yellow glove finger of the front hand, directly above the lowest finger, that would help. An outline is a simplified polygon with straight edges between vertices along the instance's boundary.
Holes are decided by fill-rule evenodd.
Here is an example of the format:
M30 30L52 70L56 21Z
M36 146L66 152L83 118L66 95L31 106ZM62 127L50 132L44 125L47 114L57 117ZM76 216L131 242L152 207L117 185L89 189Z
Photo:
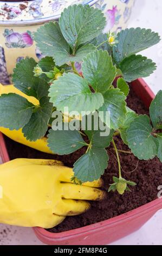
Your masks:
M106 193L98 188L75 184L62 184L62 197L66 199L102 200Z

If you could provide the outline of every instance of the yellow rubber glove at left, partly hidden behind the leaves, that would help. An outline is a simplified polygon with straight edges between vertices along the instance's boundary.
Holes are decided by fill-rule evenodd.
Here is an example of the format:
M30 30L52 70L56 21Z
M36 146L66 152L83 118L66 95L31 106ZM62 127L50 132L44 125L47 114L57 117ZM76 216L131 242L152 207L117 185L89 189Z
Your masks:
M14 87L12 85L2 86L2 84L0 84L0 95L8 94L8 93L16 93L18 95L21 95L21 96L25 97L25 99L27 99L29 102L33 103L34 105L39 104L39 101L35 97L31 97L31 96L28 96L28 95L22 93L16 87ZM22 133L22 129L20 129L18 131L16 131L16 130L10 131L10 129L8 129L8 128L0 127L0 131L4 135L9 137L10 139L13 139L13 141L19 142L23 145L26 145L30 148L37 149L37 150L42 151L44 153L54 154L49 149L49 147L47 145L47 138L46 137L38 139L36 142L30 142L30 141L27 141L27 139L24 137L24 135Z

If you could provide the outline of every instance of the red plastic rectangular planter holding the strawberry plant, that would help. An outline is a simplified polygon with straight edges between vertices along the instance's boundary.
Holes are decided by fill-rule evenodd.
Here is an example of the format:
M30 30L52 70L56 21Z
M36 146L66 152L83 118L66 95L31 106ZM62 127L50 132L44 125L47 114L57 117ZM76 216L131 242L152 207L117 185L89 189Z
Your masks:
M135 93L149 107L154 94L144 80L134 81L132 86ZM9 156L1 134L0 139L1 159L6 162L9 161ZM50 233L43 228L37 227L34 228L34 231L38 239L48 245L107 245L138 230L161 208L162 199L156 199L151 203L126 212L126 214L86 227L62 233Z

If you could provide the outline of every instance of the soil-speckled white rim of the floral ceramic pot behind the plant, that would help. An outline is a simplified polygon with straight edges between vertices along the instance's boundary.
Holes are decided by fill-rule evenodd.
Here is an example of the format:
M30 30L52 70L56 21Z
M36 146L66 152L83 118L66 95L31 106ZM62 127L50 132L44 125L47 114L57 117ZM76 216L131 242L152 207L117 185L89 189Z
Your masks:
M67 8L69 5L89 4L92 6L97 1L98 0L61 0L57 3L57 1L51 0L48 4L47 0L33 0L25 2L0 1L0 26L30 26L48 21L56 21L60 18L63 9ZM21 9L21 5L26 8Z

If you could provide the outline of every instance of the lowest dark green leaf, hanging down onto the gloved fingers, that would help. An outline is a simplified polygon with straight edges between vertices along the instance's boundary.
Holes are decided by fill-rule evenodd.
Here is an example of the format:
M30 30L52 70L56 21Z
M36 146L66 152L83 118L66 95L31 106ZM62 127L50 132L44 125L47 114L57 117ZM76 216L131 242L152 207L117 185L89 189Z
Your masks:
M98 180L107 168L105 149L93 148L74 163L74 174L82 182Z

